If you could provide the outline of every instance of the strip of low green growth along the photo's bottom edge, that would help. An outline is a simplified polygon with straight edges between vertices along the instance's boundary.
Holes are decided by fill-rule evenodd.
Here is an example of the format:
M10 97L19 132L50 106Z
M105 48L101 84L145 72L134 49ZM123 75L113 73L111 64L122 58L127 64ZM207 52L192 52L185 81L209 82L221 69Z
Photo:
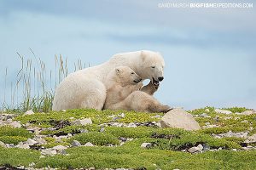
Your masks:
M207 151L189 154L170 150L147 150L124 147L76 147L67 149L67 156L47 156L39 159L37 150L0 148L0 164L9 163L35 167L96 167L103 168L142 168L148 170L168 169L254 169L256 151L236 152L231 150Z

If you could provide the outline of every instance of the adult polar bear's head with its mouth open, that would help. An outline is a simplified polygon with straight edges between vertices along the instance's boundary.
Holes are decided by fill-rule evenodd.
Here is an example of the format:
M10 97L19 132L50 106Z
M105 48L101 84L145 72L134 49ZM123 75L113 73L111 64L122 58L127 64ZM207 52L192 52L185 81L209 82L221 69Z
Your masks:
M141 59L143 65L141 65L140 77L144 79L150 79L155 86L159 85L164 79L164 67L165 61L160 53L152 51L142 51Z

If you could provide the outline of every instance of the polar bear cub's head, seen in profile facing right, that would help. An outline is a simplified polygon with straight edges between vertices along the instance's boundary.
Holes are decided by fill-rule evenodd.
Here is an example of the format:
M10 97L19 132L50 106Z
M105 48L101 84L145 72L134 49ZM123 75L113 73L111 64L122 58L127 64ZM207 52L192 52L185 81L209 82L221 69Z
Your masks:
M135 71L131 70L128 66L119 66L115 68L116 81L122 86L137 84L141 82L142 78L139 77Z

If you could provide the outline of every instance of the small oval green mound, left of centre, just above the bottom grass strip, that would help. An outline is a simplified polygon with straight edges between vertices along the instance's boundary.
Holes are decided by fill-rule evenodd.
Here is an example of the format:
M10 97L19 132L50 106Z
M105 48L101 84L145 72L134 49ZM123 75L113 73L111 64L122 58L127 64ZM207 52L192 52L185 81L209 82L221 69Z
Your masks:
M80 133L73 136L73 138L68 141L72 142L73 140L78 140L81 144L86 144L87 142L96 145L119 144L119 140L112 134L99 132Z

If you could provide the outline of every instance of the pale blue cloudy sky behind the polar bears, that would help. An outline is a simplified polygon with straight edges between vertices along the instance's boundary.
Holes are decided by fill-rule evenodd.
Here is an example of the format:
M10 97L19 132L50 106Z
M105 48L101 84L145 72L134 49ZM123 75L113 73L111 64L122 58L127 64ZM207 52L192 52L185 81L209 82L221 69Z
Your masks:
M202 1L220 3L223 1ZM10 96L20 58L33 53L55 70L81 59L98 65L113 54L148 49L166 61L154 97L195 109L256 109L256 3L253 8L159 8L157 0L0 0L0 102ZM227 3L237 3L229 1ZM31 51L32 49L32 51ZM6 68L8 75L5 77Z

